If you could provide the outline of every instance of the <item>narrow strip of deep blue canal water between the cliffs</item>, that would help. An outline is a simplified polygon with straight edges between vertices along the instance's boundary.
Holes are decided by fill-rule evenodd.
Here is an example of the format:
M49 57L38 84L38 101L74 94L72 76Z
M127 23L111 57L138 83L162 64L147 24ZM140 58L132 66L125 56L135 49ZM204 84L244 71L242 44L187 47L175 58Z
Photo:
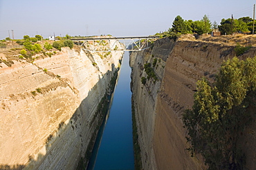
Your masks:
M88 169L134 169L130 74L129 54L125 52L109 117L99 132Z

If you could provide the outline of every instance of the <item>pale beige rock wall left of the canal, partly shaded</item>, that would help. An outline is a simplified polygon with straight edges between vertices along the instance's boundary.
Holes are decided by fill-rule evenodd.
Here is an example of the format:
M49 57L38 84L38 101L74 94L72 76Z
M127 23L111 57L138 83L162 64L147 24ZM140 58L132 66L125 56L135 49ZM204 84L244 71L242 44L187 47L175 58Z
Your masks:
M1 63L0 167L74 169L86 162L122 54L64 47L33 63Z

